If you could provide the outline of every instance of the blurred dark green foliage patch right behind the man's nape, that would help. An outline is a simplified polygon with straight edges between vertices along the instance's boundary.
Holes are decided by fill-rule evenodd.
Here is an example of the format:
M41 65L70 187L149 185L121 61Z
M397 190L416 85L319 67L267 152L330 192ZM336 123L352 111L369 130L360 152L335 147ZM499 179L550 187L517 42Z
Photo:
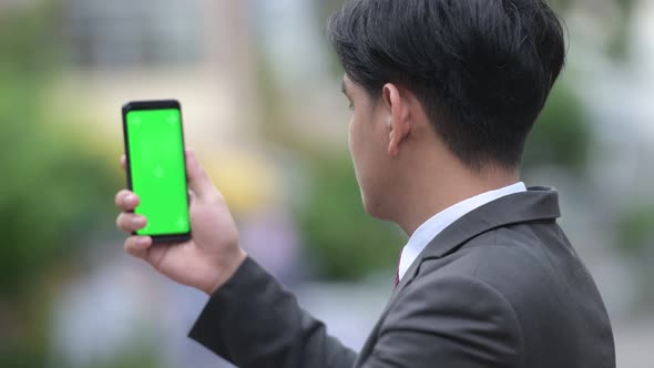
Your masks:
M561 81L527 140L523 166L530 170L556 165L583 173L592 144L591 133L579 99Z

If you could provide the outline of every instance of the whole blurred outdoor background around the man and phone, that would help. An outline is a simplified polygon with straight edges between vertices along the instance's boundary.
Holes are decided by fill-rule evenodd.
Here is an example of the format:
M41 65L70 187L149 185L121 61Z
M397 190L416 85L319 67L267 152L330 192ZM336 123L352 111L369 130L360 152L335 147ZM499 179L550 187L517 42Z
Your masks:
M186 338L206 296L123 253L121 105L182 102L244 246L358 348L407 237L347 152L339 0L0 0L0 367L227 367ZM619 367L654 347L654 1L559 0L569 64L525 153L604 297ZM647 359L650 358L650 359Z

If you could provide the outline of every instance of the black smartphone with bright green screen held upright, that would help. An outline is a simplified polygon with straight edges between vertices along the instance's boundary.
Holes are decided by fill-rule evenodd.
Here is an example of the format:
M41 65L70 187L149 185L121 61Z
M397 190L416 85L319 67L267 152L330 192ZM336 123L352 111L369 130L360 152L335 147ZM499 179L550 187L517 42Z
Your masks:
M153 243L191 238L182 109L175 100L123 105L127 188L141 200L134 213L147 225L134 235Z

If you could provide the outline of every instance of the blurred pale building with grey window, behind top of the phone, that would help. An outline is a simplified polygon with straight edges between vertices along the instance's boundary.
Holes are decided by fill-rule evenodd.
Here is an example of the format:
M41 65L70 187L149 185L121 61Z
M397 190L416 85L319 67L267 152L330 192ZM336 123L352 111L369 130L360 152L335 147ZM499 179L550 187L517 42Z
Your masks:
M55 105L83 96L93 123L117 137L124 102L178 99L196 147L256 139L247 2L64 0L61 24L69 68Z

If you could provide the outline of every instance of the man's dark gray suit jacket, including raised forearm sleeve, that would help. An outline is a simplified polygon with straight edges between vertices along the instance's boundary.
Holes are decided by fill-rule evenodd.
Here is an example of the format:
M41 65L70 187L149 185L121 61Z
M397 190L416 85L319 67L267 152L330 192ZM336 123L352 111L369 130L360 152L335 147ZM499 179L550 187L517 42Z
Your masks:
M239 367L615 367L597 288L535 187L440 233L394 290L357 356L254 260L215 295L191 337Z

